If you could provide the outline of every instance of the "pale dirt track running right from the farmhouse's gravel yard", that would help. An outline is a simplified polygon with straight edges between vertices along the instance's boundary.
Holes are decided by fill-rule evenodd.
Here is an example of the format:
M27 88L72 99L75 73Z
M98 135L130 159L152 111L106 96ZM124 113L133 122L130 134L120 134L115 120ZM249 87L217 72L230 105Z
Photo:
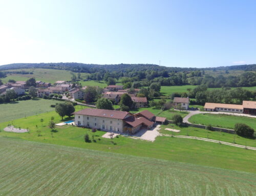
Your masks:
M244 145L240 145L240 144L233 144L233 143L229 143L229 142L223 142L223 141L212 140L212 139L207 139L207 138L199 138L199 137L193 137L193 136L174 136L174 135L172 136L172 135L167 135L167 134L159 134L159 136L202 140L202 141L206 141L206 142L214 142L214 143L220 143L220 144L225 144L225 145L239 147L239 148L246 148L246 149L250 149L250 150L256 150L256 147L244 146Z

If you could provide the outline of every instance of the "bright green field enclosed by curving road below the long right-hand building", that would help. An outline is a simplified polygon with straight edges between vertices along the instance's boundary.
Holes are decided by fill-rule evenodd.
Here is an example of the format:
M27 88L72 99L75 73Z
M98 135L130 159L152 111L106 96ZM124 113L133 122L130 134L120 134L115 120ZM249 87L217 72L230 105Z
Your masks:
M211 124L212 126L224 127L224 128L234 128L236 123L245 123L248 126L256 130L256 118L249 118L244 116L231 116L224 114L197 114L191 116L188 119L189 122L195 124Z

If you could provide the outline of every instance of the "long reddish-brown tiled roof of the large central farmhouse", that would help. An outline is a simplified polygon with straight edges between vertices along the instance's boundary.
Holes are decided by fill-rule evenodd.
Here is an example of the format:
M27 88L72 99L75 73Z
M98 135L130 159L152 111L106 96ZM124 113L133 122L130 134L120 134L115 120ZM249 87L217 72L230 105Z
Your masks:
M84 110L74 112L73 114L98 116L98 117L114 118L114 119L124 119L130 113L129 112L123 112L123 111L116 111L116 110L103 110L103 109L86 108Z

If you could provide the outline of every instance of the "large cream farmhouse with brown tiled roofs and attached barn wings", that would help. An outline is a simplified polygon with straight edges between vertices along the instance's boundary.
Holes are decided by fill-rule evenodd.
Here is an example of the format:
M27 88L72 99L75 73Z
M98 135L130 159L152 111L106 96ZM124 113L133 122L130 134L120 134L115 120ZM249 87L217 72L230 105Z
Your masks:
M156 119L156 116L149 111L133 115L123 111L86 108L73 114L77 126L128 134L135 134L142 127L153 127Z

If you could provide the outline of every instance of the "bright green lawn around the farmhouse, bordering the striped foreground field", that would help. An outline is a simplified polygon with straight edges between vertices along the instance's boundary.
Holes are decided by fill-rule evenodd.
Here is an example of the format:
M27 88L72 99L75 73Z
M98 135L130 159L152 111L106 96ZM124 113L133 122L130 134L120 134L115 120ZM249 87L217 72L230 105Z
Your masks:
M84 107L80 105L76 106L76 110L81 110L82 108ZM256 172L254 167L255 151L253 150L245 150L243 148L193 139L164 136L157 137L154 142L135 140L124 136L119 136L118 138L111 140L101 137L105 132L97 130L97 132L93 134L91 129L71 125L57 126L54 132L51 132L48 127L51 117L54 117L55 123L62 122L55 111L39 114L37 116L30 116L26 119L13 120L12 124L15 127L28 128L30 130L30 132L23 134L3 131L11 121L0 123L0 137ZM44 119L44 121L40 122L40 119ZM72 119L72 117L65 118L63 121L70 119ZM202 131L203 130L206 132L205 129L202 129ZM95 142L84 142L85 134L89 134L91 140L94 136ZM229 137L233 137L233 135L230 134ZM247 140L249 141L249 139Z

